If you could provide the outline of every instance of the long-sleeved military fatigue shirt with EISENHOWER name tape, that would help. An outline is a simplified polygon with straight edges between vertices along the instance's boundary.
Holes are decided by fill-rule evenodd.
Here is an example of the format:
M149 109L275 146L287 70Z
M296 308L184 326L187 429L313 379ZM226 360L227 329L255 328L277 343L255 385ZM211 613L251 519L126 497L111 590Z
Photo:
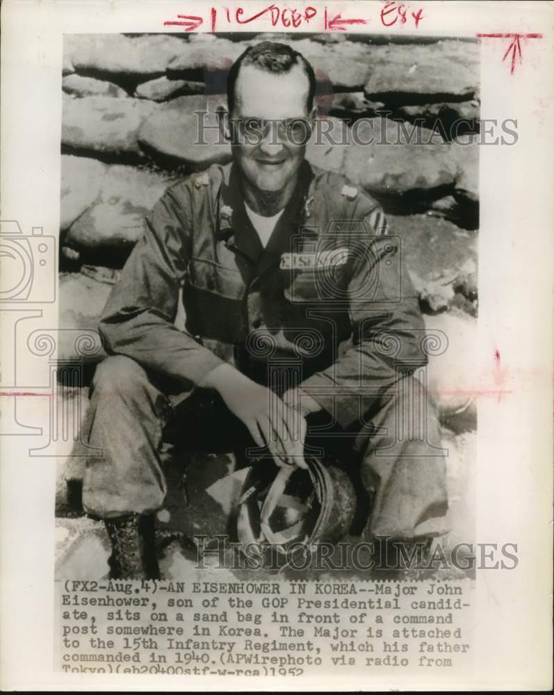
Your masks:
M174 324L181 288L184 330ZM301 382L344 428L398 380L398 366L426 361L400 239L367 193L306 161L265 249L236 165L171 186L99 331L108 354L178 379L184 391L222 362L276 391L284 387L275 369L293 372L288 386Z

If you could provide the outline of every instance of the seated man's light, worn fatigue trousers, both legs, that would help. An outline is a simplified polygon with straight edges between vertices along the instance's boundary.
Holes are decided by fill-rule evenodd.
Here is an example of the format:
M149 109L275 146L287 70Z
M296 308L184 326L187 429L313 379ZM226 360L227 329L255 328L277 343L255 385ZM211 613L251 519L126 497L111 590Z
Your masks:
M371 500L366 537L417 539L444 532L446 466L437 415L423 385L407 375L370 403L354 431L322 425L327 414L309 417L307 446L343 461L361 481ZM179 395L179 386L122 355L97 367L83 427L90 446L101 450L87 461L83 507L99 518L162 507L164 441L190 452L256 446L218 393L197 388Z

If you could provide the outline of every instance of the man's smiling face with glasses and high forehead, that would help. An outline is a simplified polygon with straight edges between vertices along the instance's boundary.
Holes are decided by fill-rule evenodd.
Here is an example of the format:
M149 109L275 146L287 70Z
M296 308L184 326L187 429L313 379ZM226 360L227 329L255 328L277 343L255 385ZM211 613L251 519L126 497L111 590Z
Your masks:
M232 150L254 188L282 190L302 164L307 124L302 126L295 119L310 116L308 92L309 79L300 65L285 74L272 74L253 65L238 72L231 113L238 130ZM291 124L291 120L295 127L287 133L286 122Z

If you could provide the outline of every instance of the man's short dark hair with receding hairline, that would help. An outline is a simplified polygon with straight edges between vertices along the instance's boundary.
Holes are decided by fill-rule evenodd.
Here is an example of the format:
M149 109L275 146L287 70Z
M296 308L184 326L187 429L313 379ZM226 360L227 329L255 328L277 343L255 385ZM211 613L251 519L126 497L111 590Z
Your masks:
M241 70L241 65L254 65L261 70L274 74L286 74L295 65L300 65L304 68L309 81L308 111L311 111L313 97L316 94L316 75L313 72L313 67L302 54L287 44L263 41L255 46L248 47L231 65L229 75L227 76L227 107L229 108L229 113L232 113L235 105L235 83L238 79L238 71Z

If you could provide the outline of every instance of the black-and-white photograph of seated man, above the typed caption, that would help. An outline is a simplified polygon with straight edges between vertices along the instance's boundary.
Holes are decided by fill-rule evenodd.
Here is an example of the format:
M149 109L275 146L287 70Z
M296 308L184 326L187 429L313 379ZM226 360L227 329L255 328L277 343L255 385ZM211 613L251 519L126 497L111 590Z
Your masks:
M409 576L395 543L471 570L430 560L474 535L479 67L452 38L64 38L60 320L101 348L60 576Z

